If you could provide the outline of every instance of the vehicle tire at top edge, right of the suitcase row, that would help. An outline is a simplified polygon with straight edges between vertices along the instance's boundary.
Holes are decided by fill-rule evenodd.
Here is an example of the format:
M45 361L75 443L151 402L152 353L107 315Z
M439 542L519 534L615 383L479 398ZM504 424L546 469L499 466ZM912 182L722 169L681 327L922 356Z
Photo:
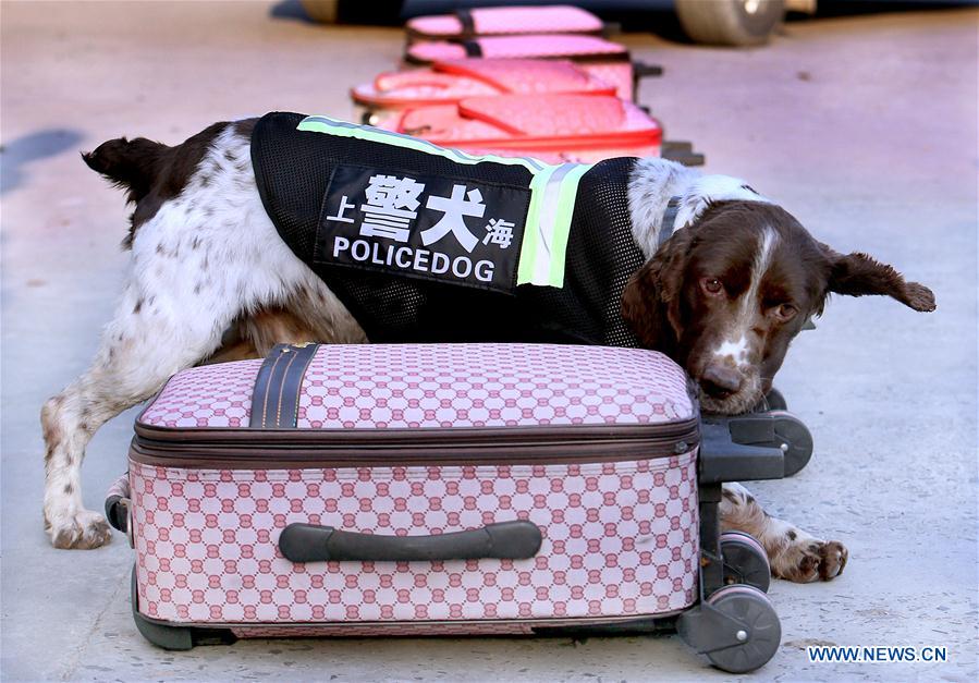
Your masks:
M785 16L785 0L676 0L676 15L697 42L764 45Z

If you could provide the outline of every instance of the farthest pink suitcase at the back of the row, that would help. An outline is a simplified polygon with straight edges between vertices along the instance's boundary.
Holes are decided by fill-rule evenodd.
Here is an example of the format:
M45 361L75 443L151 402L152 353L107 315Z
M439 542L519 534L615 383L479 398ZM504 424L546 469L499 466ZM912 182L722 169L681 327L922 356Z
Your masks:
M408 40L466 40L519 34L601 34L602 21L580 8L502 7L460 9L454 14L416 16L405 24Z

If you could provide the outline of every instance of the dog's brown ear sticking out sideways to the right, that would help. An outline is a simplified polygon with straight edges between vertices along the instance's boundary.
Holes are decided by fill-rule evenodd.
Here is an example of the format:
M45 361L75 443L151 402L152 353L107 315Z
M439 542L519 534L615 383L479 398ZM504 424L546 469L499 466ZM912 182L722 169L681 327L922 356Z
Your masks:
M932 291L919 282L905 282L892 266L881 264L867 254L844 256L824 244L821 246L830 261L827 291L848 296L882 294L915 310L934 310Z

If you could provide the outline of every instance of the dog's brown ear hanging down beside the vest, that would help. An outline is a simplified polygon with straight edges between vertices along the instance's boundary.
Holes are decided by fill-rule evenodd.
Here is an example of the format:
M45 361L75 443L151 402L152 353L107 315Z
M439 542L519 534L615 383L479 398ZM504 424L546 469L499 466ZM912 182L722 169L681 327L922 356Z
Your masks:
M690 232L670 237L622 291L622 317L646 349L668 350L683 332L680 296Z

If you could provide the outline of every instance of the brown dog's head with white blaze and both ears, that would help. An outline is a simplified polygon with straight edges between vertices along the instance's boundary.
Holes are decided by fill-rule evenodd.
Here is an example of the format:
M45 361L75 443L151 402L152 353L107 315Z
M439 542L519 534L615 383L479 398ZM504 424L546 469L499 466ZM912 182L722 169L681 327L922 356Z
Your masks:
M866 254L837 254L779 206L721 202L632 278L622 313L644 346L685 367L706 411L736 414L768 392L790 342L830 293L934 309L928 288Z

